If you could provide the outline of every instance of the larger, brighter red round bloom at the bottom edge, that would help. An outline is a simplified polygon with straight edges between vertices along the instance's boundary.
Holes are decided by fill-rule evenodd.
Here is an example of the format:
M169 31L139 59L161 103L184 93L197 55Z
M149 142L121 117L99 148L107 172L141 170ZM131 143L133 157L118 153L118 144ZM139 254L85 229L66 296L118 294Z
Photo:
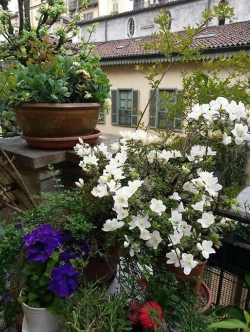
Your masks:
M162 309L156 301L146 302L139 310L140 323L143 329L148 329L151 332L161 326L162 316Z

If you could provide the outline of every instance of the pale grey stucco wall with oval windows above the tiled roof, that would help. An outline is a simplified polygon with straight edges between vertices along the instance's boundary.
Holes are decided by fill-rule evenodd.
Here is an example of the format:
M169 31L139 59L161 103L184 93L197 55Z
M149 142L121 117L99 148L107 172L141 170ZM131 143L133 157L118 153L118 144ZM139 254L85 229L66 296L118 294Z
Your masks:
M102 1L105 2L107 0ZM210 7L212 8L217 2L218 0L211 0ZM187 26L188 24L190 26L195 26L197 22L201 21L202 11L208 6L208 4L208 0L195 0L169 4L166 6L165 8L171 12L173 18L171 30L173 32L181 31L183 30L183 26ZM235 17L231 19L231 22L250 20L250 0L230 0L230 5L234 7L235 12ZM154 17L157 17L158 15L159 13L157 9L153 8L146 11L127 13L124 16L108 18L107 25L105 20L99 21L97 33L93 36L92 40L104 42L106 41L106 36L107 41L129 38L127 35L127 22L130 17L133 17L135 21L135 33L133 37L151 35L158 29L157 25L154 23ZM229 20L226 20L226 23L229 23ZM217 24L217 18L208 23L208 25ZM88 23L81 26L82 34L85 36L87 35L86 28L88 26Z

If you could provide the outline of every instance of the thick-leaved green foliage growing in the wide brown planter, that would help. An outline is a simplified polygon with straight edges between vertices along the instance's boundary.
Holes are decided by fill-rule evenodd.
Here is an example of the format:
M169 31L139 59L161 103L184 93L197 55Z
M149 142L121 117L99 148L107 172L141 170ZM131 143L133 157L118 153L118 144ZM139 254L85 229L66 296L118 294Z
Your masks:
M98 102L103 105L110 85L94 61L57 55L41 64L19 66L12 70L15 80L8 98L14 104Z

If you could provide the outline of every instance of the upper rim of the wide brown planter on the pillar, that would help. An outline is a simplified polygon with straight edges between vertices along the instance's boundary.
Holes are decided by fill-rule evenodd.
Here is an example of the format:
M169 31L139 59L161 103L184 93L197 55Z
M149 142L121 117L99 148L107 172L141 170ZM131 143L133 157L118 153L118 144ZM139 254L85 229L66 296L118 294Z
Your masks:
M79 107L91 107L91 108L99 108L102 105L99 103L21 103L18 105L11 105L12 108L19 108L19 107L48 107L48 108L79 108Z

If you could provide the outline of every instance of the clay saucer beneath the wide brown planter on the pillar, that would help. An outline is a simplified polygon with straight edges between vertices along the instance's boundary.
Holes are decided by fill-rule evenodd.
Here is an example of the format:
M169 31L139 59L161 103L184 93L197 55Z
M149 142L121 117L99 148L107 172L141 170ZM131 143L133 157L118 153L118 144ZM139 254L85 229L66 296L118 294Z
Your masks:
M93 134L79 136L85 143L93 145L97 142L99 136L102 133L100 130L95 129ZM38 149L47 150L59 150L59 149L72 149L77 143L79 143L79 138L77 137L29 137L22 135L21 138L26 140L29 146Z

